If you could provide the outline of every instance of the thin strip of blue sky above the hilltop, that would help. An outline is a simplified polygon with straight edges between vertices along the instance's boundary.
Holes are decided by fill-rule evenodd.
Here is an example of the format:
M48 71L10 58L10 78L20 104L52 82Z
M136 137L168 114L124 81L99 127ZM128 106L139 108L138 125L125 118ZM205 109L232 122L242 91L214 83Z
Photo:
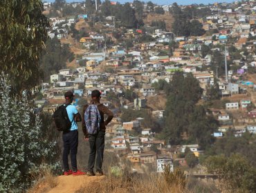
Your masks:
M44 0L43 0L44 1ZM47 0L46 0L47 1ZM51 2L54 2L55 0L48 0L48 1L51 1ZM82 0L66 0L66 2L72 2L72 1L77 1L77 2L80 2ZM104 1L104 0L101 0L101 1ZM111 0L111 1L115 1L115 0ZM116 0L120 3L125 3L125 2L133 2L133 0ZM143 0L141 0L143 1ZM204 4L208 4L208 3L215 3L215 2L227 2L227 3L231 3L235 0L224 0L224 1L221 1L221 0L151 0L153 3L157 3L159 5L163 5L163 4L172 4L174 2L178 3L179 5L190 5L190 4L193 4L193 3L204 3ZM145 0L145 2L147 2Z

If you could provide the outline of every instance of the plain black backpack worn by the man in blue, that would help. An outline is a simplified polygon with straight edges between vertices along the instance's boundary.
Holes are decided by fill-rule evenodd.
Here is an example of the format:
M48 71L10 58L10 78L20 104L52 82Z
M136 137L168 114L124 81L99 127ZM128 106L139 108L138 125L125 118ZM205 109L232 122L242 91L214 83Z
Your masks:
M68 132L71 129L72 123L68 118L68 112L66 112L68 105L60 105L53 113L53 120L58 131Z

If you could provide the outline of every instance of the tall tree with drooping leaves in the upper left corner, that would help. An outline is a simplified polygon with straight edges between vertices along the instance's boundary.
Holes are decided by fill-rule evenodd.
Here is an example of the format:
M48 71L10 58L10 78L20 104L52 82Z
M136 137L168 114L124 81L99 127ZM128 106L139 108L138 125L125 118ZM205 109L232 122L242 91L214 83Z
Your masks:
M41 79L39 57L49 23L41 0L3 0L0 7L0 71L12 77L14 91L21 93Z

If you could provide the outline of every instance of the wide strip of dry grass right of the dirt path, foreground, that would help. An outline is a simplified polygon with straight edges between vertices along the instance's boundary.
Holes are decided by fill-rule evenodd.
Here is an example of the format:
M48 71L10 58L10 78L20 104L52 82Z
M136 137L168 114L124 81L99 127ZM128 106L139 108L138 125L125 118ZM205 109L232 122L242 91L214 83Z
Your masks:
M167 176L168 175L168 176ZM171 176L169 176L171 175ZM93 181L81 187L75 193L182 193L186 190L186 180L184 173L167 172L163 174L128 174L125 172L120 177L106 176L101 181Z

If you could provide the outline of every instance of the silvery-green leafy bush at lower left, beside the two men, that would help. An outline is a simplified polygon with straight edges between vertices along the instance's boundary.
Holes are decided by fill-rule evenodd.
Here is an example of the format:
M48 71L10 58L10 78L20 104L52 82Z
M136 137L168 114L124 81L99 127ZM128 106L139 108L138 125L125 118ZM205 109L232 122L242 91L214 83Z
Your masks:
M57 135L51 118L35 114L35 106L10 94L6 76L0 76L0 192L26 192L46 167L57 169Z

